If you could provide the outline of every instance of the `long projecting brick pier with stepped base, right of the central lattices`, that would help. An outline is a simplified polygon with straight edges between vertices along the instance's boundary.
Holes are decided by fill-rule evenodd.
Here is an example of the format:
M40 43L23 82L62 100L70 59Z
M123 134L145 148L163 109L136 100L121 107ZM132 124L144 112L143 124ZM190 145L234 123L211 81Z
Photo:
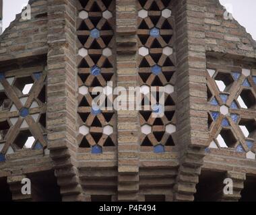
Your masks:
M177 1L177 132L180 167L174 201L193 201L208 131L203 1Z

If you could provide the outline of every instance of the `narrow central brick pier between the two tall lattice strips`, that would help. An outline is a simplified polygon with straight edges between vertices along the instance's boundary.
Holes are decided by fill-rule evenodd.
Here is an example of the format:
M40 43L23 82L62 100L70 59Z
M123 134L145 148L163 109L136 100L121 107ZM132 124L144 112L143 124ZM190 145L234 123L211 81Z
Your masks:
M117 85L126 89L137 87L136 22L136 1L117 0ZM139 191L137 111L118 111L117 124L118 200L137 201Z

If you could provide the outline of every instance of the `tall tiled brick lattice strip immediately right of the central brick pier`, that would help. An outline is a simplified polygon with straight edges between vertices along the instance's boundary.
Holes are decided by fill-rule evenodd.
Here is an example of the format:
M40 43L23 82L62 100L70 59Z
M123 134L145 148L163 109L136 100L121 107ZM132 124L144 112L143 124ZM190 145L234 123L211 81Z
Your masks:
M154 146L155 153L163 153L165 146L174 146L175 120L175 60L174 17L172 1L138 1L137 34L139 46L139 85L141 86L142 110L141 146ZM146 99L150 99L150 87L164 87L164 109L157 93L151 99L150 110L146 110ZM154 117L153 114L162 114ZM161 113L164 112L164 113Z

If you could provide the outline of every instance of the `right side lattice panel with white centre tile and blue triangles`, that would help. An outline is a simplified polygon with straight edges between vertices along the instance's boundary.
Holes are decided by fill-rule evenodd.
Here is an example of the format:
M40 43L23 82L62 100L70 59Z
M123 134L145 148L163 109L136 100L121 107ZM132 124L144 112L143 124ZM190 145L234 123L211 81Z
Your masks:
M234 148L255 159L255 74L250 69L213 64L207 69L207 95L210 148Z

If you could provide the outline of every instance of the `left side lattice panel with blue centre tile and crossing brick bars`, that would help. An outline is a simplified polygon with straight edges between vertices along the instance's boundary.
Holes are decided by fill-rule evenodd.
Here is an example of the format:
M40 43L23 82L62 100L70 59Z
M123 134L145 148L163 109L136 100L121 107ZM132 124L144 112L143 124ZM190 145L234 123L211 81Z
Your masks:
M0 73L0 160L24 149L46 148L46 71Z

